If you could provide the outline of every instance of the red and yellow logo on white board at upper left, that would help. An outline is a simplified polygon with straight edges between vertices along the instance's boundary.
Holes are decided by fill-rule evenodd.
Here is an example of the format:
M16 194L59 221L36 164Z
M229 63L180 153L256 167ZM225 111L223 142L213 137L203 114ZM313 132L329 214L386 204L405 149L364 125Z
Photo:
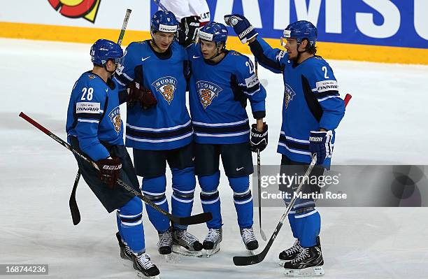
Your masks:
M101 0L48 0L50 6L59 10L64 17L78 18L95 22Z

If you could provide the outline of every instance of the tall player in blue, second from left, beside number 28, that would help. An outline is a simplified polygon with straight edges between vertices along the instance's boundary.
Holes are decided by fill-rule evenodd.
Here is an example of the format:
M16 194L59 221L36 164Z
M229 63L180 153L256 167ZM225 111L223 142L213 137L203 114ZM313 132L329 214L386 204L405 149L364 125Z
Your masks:
M176 41L177 31L175 15L158 10L151 19L152 39L128 46L115 80L120 90L129 88L125 144L133 148L136 173L143 177L143 194L169 211L165 195L168 162L172 214L187 217L192 212L196 179L193 129L185 99L187 52ZM201 255L202 244L187 227L170 226L166 216L146 208L159 234L160 254L174 250Z

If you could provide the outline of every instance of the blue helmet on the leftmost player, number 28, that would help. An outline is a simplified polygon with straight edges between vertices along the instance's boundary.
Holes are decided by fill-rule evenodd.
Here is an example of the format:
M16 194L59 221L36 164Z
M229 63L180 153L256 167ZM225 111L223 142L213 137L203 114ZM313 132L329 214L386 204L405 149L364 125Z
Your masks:
M113 59L115 63L120 63L123 57L123 50L117 43L100 38L91 47L92 63L104 66L108 59Z

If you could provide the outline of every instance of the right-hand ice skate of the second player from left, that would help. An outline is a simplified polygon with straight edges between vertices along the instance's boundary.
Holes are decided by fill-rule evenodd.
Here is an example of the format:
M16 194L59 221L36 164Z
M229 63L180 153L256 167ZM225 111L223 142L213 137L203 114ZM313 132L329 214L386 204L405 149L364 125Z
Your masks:
M186 229L174 229L173 252L192 257L202 257L202 244L198 238L187 232Z

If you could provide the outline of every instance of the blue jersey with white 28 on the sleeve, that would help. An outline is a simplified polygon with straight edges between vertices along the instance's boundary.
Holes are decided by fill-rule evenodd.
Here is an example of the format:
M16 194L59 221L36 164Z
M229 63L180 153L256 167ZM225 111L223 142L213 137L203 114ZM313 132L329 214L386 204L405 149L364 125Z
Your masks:
M80 149L98 161L110 156L101 141L123 145L117 83L88 71L76 81L67 110L66 132L77 136Z

